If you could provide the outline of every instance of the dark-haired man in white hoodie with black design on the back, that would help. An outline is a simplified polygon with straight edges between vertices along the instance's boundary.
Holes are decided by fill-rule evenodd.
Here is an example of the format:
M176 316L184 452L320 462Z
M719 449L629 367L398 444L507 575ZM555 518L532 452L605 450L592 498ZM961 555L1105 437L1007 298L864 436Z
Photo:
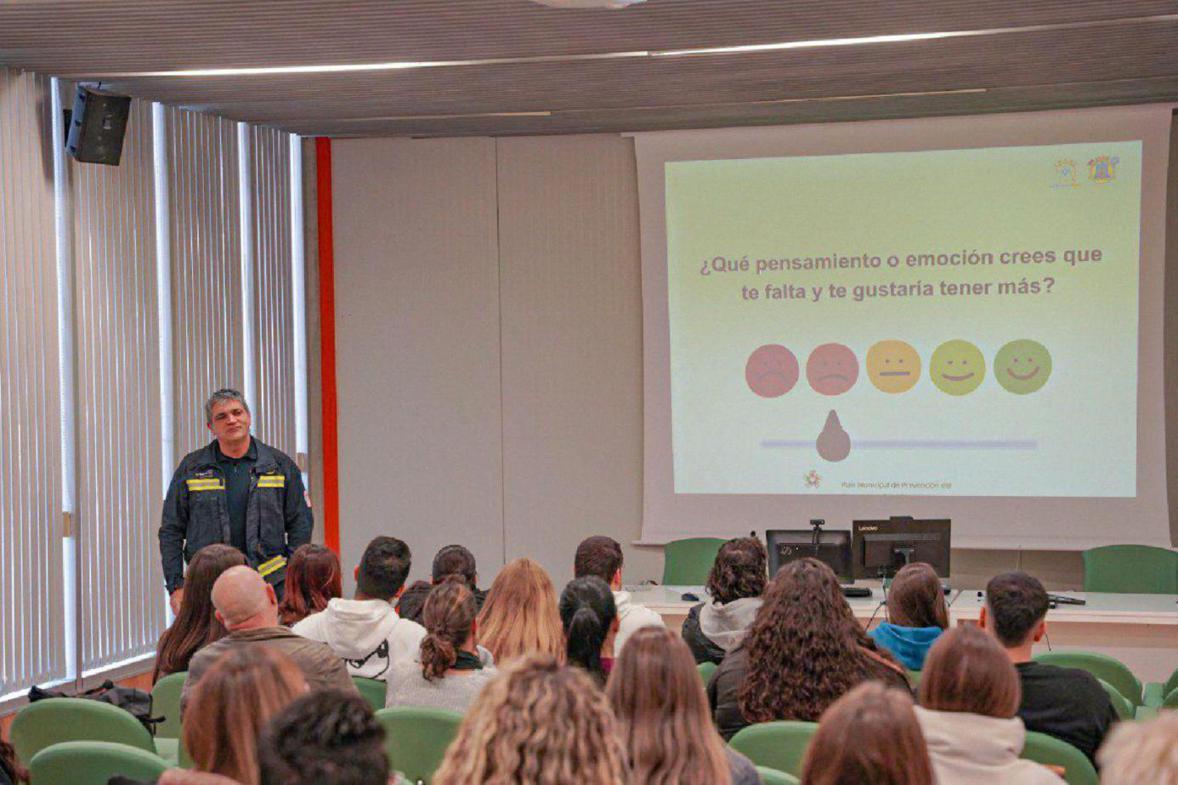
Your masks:
M372 540L356 568L356 599L335 599L294 625L299 635L331 647L348 673L386 679L397 662L417 657L425 629L393 609L409 576L409 546L397 537Z

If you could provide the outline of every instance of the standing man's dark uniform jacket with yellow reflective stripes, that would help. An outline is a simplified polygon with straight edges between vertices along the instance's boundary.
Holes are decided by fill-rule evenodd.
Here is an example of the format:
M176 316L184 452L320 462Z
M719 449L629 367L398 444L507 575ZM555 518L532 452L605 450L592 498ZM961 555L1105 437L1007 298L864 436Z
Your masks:
M290 457L253 438L258 460L250 476L245 513L245 558L258 568L274 556L290 558L311 541L311 508L303 492L303 475ZM168 593L184 586L184 565L214 542L230 542L225 475L217 464L216 442L180 461L164 500L159 553ZM280 579L283 570L270 580Z

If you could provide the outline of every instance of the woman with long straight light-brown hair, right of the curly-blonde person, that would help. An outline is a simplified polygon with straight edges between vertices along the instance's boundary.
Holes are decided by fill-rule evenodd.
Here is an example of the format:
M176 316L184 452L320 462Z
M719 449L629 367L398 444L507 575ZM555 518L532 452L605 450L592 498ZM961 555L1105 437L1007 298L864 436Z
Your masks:
M629 781L643 785L759 785L753 763L712 724L690 649L675 633L630 635L605 690L627 750Z

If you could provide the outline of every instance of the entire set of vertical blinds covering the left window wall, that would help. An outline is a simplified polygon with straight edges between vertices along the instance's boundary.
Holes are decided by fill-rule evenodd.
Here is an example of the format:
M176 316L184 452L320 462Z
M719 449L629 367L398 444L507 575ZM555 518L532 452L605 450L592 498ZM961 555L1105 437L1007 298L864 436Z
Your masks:
M209 442L206 396L252 367L254 433L294 455L305 389L292 137L135 100L119 166L54 165L51 95L0 68L0 695L153 651L163 477Z

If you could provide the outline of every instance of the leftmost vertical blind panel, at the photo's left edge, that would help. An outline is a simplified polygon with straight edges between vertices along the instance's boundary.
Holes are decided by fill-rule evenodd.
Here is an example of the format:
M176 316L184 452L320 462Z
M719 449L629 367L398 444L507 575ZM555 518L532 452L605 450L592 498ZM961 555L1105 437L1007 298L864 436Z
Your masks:
M66 675L46 88L0 68L0 694Z

